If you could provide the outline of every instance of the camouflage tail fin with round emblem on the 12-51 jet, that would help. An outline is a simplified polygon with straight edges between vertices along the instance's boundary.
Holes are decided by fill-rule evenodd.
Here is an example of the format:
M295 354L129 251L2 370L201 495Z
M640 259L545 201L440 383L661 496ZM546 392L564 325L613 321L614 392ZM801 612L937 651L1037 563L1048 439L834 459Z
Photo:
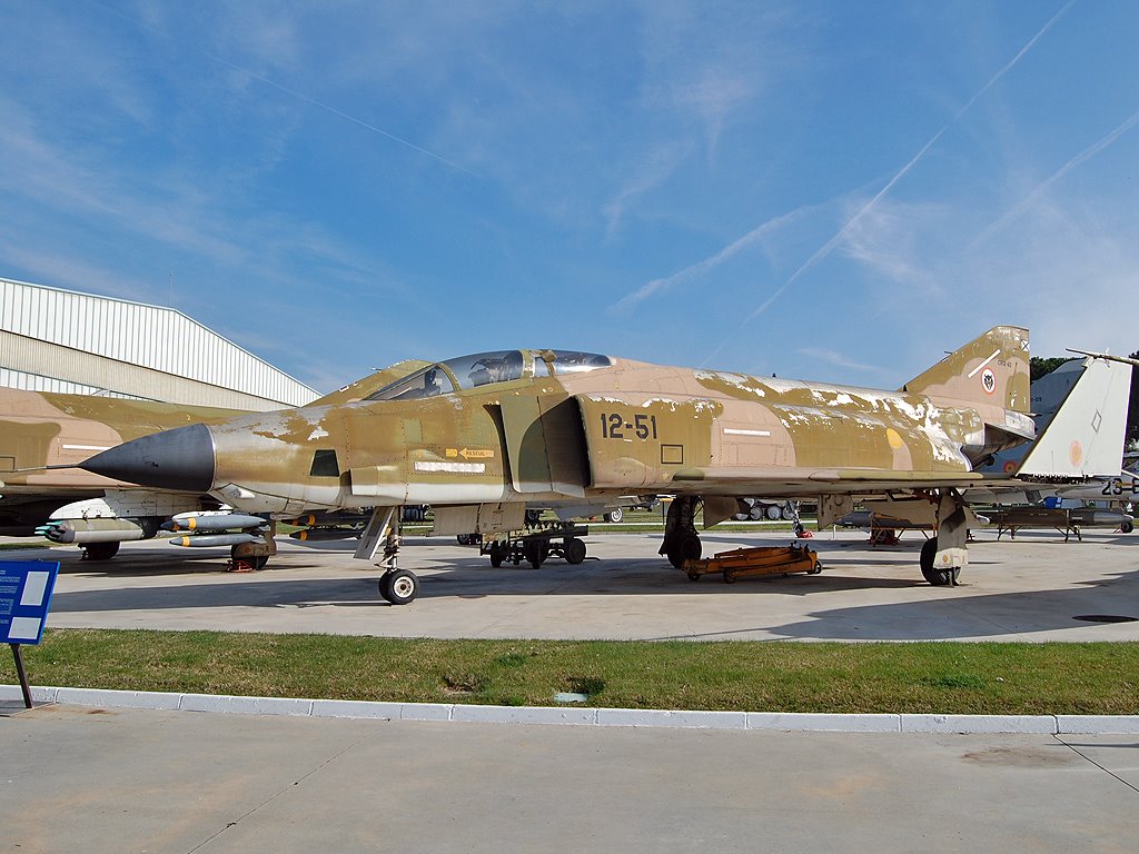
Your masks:
M901 391L1027 413L1029 330L993 327L911 379Z

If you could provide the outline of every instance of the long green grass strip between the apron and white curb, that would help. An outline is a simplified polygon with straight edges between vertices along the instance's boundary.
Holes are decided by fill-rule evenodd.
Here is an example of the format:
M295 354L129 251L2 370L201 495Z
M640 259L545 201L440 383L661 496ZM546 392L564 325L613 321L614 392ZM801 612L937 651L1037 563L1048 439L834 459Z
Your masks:
M401 640L51 630L33 684L402 703L1139 714L1139 643ZM0 656L0 681L16 681Z

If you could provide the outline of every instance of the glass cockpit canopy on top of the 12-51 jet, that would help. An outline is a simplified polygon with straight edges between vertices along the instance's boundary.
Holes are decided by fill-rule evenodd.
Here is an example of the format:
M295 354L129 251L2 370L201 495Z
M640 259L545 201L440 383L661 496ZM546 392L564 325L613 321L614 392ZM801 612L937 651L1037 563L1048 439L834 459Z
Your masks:
M534 376L581 373L612 366L609 356L573 350L475 353L418 370L374 392L367 400L411 401Z

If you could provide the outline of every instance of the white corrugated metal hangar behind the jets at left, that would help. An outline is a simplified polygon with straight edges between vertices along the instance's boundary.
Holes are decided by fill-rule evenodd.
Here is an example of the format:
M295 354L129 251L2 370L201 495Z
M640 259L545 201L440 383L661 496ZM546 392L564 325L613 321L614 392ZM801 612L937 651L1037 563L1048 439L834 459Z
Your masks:
M248 410L318 396L175 309L2 278L0 384Z

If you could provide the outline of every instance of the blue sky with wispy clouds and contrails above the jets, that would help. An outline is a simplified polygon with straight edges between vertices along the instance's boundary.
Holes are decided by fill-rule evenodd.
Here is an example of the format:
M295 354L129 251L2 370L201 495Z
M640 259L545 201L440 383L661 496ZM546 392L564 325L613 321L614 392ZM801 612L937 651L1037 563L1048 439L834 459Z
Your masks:
M1139 348L1139 5L9 2L0 276L326 391L595 350L898 386Z

